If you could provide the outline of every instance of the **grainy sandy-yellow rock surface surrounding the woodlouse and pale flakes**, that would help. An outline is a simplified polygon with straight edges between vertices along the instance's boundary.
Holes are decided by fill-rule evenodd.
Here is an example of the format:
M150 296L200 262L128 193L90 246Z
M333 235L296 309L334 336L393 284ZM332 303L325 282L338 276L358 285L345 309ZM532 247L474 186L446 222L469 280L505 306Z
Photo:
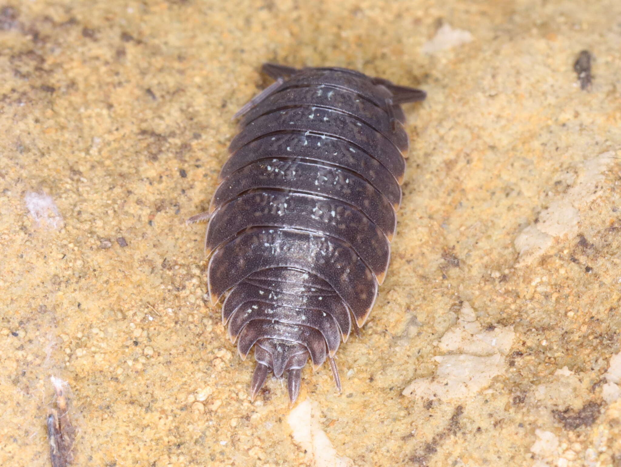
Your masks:
M406 108L392 262L339 350L343 394L327 366L302 372L338 455L619 465L621 402L602 397L620 351L619 160L577 231L527 264L514 242L585 161L621 157L620 19L617 0L1 4L2 466L49 465L50 376L72 390L75 465L312 465L280 381L250 404L252 361L206 304L204 226L184 224L208 208L266 61L428 93ZM442 24L473 40L423 53ZM402 395L435 372L466 302L482 330L512 326L501 373L468 397Z

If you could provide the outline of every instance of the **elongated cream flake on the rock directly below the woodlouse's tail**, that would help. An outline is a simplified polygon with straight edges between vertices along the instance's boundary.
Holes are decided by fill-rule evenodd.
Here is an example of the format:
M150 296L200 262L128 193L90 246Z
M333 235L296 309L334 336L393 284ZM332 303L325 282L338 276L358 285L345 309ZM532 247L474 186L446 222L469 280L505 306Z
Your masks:
M320 409L317 402L306 399L287 417L294 441L306 451L316 467L355 467L346 456L339 456L319 423Z

